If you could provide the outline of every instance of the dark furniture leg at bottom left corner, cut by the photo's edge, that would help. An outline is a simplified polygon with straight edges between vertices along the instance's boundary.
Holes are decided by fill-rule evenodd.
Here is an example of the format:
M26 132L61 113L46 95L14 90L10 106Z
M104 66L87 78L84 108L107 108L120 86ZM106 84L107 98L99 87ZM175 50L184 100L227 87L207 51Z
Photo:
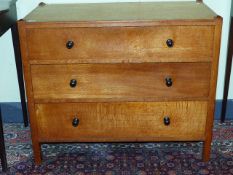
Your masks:
M0 107L0 159L1 159L2 171L6 172L7 171L7 159L6 159L6 150L5 150L5 144L4 144L1 107Z

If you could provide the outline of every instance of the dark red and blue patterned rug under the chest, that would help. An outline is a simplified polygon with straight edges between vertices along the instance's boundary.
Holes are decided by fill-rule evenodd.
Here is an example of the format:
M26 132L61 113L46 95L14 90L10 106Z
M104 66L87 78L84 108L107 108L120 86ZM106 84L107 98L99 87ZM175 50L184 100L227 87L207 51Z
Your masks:
M208 163L201 160L201 142L82 143L43 144L43 164L35 166L29 128L25 129L22 124L5 124L4 130L9 164L6 174L233 174L233 121L215 123Z

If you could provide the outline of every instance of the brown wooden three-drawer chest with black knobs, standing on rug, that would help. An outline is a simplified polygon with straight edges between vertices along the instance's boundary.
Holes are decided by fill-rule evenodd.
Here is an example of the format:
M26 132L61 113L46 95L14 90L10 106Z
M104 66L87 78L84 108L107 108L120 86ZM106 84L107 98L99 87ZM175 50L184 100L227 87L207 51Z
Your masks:
M202 3L40 4L18 22L36 163L44 142L203 141L222 19Z

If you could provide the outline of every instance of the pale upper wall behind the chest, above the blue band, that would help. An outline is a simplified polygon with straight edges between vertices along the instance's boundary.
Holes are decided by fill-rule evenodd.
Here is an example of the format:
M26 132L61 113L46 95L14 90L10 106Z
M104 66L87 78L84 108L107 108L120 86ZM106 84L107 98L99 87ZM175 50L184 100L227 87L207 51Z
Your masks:
M87 2L129 2L140 0L44 0L45 3L87 3ZM155 0L146 0L155 1ZM157 0L159 1L159 0ZM162 1L162 0L160 0ZM163 1L175 1L175 0L163 0ZM181 0L187 1L187 0ZM192 0L189 0L192 1ZM18 18L23 18L31 10L33 10L41 0L18 0L17 10ZM224 84L224 72L226 64L227 54L227 40L229 31L229 19L230 19L230 6L231 0L204 0L204 2L212 8L217 14L224 18L223 33L222 33L222 45L220 53L219 64L219 77L217 87L217 99L222 99L223 84ZM8 31L4 36L0 38L0 102L18 102L19 101L19 89L17 85L17 75L14 62L13 47L11 41L11 33ZM233 82L231 82L230 98L233 99Z

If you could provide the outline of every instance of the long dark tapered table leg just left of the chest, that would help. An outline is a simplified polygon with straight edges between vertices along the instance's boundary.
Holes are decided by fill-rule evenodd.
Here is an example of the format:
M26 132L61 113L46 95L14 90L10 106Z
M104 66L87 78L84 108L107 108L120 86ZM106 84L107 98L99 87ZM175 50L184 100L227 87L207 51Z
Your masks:
M23 120L24 126L28 126L28 111L27 111L27 104L26 104L26 97L25 97L25 87L24 87L24 79L23 79L23 69L22 69L22 60L21 60L21 53L20 53L20 45L19 45L19 36L18 36L18 28L17 25L13 25L11 28L12 38L13 38L13 45L15 51L15 63L18 75L18 83L19 83L19 91L20 91L20 98L21 98L21 106L23 111Z

